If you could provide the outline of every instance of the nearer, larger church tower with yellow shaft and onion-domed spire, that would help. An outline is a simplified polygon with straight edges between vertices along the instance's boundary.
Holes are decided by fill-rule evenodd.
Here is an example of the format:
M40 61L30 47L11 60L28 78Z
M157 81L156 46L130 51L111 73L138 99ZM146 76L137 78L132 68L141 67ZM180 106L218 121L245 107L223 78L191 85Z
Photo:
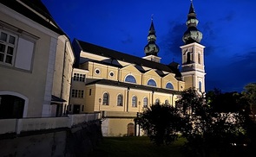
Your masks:
M198 20L191 1L187 15L187 31L182 40L185 45L181 46L182 64L181 74L185 82L185 88L194 87L200 92L205 91L205 66L204 66L204 46L200 44L202 33L196 28Z

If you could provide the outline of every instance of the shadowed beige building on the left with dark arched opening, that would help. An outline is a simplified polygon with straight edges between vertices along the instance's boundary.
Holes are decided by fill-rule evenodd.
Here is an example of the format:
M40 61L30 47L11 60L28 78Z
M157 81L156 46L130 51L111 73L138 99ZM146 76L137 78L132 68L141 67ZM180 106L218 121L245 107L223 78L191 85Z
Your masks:
M75 60L40 0L0 3L0 118L62 116Z

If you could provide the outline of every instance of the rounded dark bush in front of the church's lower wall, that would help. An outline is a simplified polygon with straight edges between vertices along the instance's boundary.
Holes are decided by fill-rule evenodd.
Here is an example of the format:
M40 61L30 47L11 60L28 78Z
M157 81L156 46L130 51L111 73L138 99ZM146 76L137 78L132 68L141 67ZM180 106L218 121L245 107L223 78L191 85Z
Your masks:
M178 138L180 117L171 105L154 104L135 118L142 129L147 130L156 145L170 144Z

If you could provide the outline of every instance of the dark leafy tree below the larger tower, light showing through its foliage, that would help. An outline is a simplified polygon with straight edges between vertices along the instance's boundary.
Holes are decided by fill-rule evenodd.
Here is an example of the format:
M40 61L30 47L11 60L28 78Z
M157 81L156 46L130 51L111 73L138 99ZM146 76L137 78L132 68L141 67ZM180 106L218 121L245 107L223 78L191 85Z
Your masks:
M181 116L181 134L187 139L189 156L208 156L213 148L220 154L231 154L232 143L245 138L243 118L239 112L219 112L216 106L220 103L221 94L211 93L211 99L206 100L194 89L182 91L181 99L176 102L176 108ZM228 97L233 94L228 94ZM218 100L218 102L216 102ZM220 108L221 109L221 108Z

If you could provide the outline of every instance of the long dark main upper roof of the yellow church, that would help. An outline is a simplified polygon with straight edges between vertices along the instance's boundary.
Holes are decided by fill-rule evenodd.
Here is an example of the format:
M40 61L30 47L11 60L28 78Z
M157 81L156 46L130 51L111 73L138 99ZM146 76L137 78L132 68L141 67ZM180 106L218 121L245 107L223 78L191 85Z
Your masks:
M83 52L94 53L96 55L101 55L101 56L107 57L109 59L121 60L121 61L125 61L125 62L135 64L138 66L147 66L149 68L156 69L159 71L175 73L175 77L178 77L177 79L179 79L179 77L181 77L181 72L179 71L179 69L177 69L177 67L164 65L164 64L154 62L151 60L145 60L140 57L130 55L128 53L121 53L121 52L111 50L111 49L108 49L105 47L96 46L89 42L79 41L77 39L75 39L75 41L79 45L79 47L81 48L81 50ZM73 41L73 44L74 43L75 42ZM78 60L79 60L79 58L77 59L77 61Z

